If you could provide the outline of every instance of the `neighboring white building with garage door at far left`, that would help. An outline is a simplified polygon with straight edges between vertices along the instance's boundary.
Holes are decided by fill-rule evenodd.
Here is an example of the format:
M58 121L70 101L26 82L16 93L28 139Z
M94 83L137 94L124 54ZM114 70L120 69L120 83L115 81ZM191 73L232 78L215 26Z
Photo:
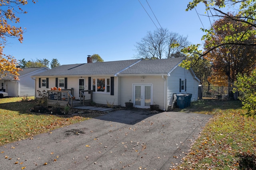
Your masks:
M46 70L50 68L22 68L19 72L20 80L14 80L12 75L3 76L0 79L1 90L7 92L10 97L35 96L35 80L31 76Z

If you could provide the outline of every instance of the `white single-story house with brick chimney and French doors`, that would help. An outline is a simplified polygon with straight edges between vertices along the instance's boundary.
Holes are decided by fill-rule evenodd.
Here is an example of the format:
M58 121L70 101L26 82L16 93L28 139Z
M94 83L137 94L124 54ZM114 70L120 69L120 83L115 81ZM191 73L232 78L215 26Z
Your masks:
M200 80L192 69L179 66L183 60L185 57L91 63L88 57L87 63L61 65L32 78L36 79L36 90L41 92L51 87L73 88L78 99L80 90L92 90L96 104L125 106L130 101L133 107L150 108L156 104L168 110L173 94L192 94L191 101L198 100Z

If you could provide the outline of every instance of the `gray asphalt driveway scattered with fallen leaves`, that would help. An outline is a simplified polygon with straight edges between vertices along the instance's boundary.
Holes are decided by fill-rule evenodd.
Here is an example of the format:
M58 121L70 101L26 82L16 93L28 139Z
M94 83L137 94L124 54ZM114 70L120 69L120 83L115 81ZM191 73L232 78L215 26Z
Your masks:
M211 115L112 111L0 147L4 170L169 170Z

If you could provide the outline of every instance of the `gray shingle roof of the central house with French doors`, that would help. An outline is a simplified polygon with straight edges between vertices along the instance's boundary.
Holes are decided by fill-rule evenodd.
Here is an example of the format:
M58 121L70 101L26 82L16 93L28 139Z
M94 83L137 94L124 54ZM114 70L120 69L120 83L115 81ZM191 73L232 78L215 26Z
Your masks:
M101 63L61 65L34 76L75 76L118 74L164 74L170 72L185 57L160 60L124 60Z

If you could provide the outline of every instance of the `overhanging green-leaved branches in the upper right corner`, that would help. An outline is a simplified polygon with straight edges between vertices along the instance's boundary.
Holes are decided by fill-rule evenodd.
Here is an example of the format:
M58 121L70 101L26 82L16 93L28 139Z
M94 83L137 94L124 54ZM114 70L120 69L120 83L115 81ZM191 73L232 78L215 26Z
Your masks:
M184 49L187 53L198 53L201 56L207 55L210 51L224 46L224 45L237 45L237 46L256 46L256 39L251 39L256 35L256 2L254 0L193 0L189 2L188 10L194 9L198 4L203 3L206 7L205 16L210 18L222 18L234 21L236 24L224 24L221 27L212 25L210 29L202 29L206 33L202 37L204 41L212 41L212 35L214 35L214 29L222 31L236 31L237 25L246 27L245 30L233 33L232 35L226 35L221 42L212 41L207 45L209 48L204 53L200 53L198 48L193 46ZM226 12L226 10L233 10ZM234 23L233 22L233 23ZM198 46L197 46L198 47Z

